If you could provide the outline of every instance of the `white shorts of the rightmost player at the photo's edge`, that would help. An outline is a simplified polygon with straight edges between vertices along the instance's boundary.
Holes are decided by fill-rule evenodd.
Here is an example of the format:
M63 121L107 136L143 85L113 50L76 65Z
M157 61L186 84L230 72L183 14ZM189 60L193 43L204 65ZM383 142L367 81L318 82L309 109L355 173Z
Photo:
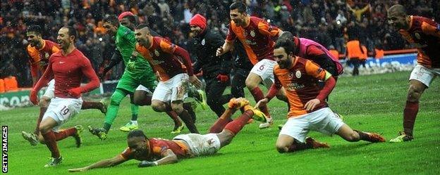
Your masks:
M416 65L411 72L410 80L415 79L429 87L435 77L440 76L440 68L428 68L423 65Z

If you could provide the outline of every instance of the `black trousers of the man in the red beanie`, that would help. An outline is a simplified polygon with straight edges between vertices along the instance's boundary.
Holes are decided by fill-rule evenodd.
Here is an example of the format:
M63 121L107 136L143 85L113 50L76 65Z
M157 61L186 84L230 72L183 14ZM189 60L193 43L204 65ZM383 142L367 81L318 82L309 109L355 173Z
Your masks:
M229 85L229 82L220 82L216 78L204 80L207 83L205 91L207 93L207 103L209 108L211 108L211 110L214 111L218 117L220 117L225 111L223 105L228 103L228 101L232 98L231 94L223 95L226 86Z

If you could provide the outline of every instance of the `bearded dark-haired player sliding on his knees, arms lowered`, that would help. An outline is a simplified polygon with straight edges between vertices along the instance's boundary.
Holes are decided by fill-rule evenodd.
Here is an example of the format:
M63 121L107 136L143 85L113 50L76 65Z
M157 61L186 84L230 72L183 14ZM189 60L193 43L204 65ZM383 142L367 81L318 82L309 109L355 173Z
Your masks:
M274 66L275 83L265 98L255 105L266 105L282 87L286 90L291 110L288 121L281 129L276 149L279 153L295 152L311 148L329 148L326 143L319 143L307 137L310 130L323 134L337 134L346 141L384 142L379 134L350 129L335 115L324 100L334 89L336 81L329 72L293 53L293 41L281 39L274 46L274 57L278 65ZM318 81L325 82L320 88Z

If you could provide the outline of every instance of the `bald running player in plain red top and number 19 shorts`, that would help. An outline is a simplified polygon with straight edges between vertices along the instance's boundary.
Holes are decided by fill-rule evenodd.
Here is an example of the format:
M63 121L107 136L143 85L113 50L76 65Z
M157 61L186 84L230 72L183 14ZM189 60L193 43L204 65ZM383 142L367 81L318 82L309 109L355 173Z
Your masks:
M40 141L46 143L51 152L51 160L44 167L54 167L63 162L56 141L61 141L68 136L73 136L77 147L81 145L80 132L82 127L77 125L69 129L59 130L63 123L80 112L82 105L81 93L92 91L99 87L99 79L94 72L90 60L77 48L75 39L78 37L73 27L62 27L58 32L58 41L61 51L49 58L49 65L41 79L30 91L30 101L38 104L37 93L52 78L55 79L55 97L44 112L39 131L42 134ZM90 82L80 86L82 77L87 77Z

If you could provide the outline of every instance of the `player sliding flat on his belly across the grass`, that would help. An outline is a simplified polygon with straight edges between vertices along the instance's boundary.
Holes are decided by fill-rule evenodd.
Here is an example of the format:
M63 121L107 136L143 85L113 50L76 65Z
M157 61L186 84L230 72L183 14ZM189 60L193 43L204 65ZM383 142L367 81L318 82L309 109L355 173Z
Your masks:
M138 167L154 167L176 163L182 158L214 155L220 148L231 143L249 119L266 121L264 114L259 110L254 110L248 103L249 101L245 98L232 98L223 115L209 129L209 134L181 134L170 141L163 138L147 138L140 130L130 131L127 136L128 148L123 150L123 153L87 167L69 169L68 171L113 167L128 160L141 161ZM240 108L245 112L229 122L231 116Z

